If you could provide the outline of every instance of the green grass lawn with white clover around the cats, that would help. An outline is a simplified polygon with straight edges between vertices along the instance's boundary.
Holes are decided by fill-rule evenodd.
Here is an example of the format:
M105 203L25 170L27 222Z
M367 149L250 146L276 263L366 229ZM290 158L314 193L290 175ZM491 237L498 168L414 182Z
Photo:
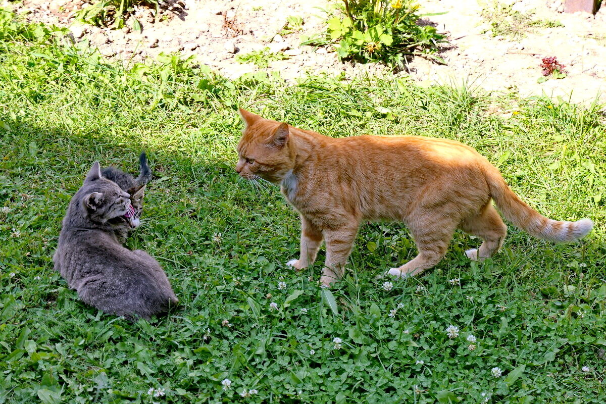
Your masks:
M108 64L50 40L53 32L0 12L0 403L604 402L598 107L402 78L230 82L170 55ZM487 116L494 102L519 113ZM231 168L238 105L330 136L458 139L541 213L591 217L596 228L574 245L510 228L501 254L479 265L463 253L479 241L458 233L435 270L386 291L375 276L415 248L401 224L364 224L351 271L330 293L319 290L308 278L319 278L322 253L301 273L284 265L298 250L296 213L276 188ZM92 162L136 171L142 148L157 177L128 246L161 262L181 308L133 324L80 303L52 254ZM449 325L458 337L448 338Z

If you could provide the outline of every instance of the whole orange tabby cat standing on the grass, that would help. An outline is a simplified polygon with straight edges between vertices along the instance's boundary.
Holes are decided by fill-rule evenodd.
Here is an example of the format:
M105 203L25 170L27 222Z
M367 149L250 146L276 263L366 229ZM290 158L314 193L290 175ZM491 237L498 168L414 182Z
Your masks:
M280 184L301 215L305 268L326 242L324 286L339 279L362 220L401 220L418 256L388 274L411 276L438 263L456 229L481 237L473 260L496 253L507 227L491 204L519 228L553 241L578 240L593 222L547 219L522 202L499 171L473 148L447 139L353 136L333 139L240 109L246 128L236 171L247 179Z

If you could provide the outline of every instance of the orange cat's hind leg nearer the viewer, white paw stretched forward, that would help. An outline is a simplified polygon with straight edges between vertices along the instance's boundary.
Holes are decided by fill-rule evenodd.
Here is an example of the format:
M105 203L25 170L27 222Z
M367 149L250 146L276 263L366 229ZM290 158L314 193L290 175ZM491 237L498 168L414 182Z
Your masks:
M391 268L387 274L396 277L415 276L434 267L446 254L453 237L456 223L452 220L427 218L418 220L418 225L409 225L415 239L418 256L398 268Z

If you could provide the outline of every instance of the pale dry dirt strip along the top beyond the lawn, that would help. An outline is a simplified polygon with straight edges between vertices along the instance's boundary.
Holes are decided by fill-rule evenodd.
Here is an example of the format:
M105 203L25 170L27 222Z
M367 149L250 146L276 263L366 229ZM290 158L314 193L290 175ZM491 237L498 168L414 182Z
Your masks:
M382 65L352 65L339 62L331 47L299 45L305 36L324 29L327 14L338 0L170 0L160 13L138 8L134 17L142 31L133 29L133 19L121 30L81 24L74 12L82 0L23 0L12 4L32 21L67 25L77 41L88 40L111 58L140 60L160 52L179 51L196 55L202 64L229 78L259 70L279 71L287 80L305 73L326 72L351 77L384 75ZM606 2L606 1L605 1ZM606 100L606 5L596 16L560 13L558 0L501 0L513 9L532 14L533 19L557 21L558 27L522 28L522 36L494 36L482 9L494 0L419 1L422 12L438 30L448 34L450 45L441 52L445 65L415 58L407 71L421 84L473 82L488 91L517 91L521 96L547 94L574 102ZM299 29L284 30L288 17L300 17ZM552 24L553 25L553 24ZM279 35L282 33L282 35ZM270 62L266 68L241 63L237 56L270 48L288 59ZM539 83L541 58L556 56L566 65L567 77Z

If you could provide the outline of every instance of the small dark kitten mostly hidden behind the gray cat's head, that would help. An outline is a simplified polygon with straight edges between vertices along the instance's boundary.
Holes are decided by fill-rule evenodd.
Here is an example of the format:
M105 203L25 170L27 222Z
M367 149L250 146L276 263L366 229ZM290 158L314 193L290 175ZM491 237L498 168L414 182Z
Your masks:
M120 216L109 220L113 225L118 236L118 240L124 243L134 228L141 223L139 218L143 211L143 197L145 195L145 184L151 179L151 170L147 165L147 156L145 151L139 156L139 176L137 179L132 175L118 170L115 167L105 167L101 171L101 175L108 180L112 180L122 191L127 191L130 194L130 203L134 208L134 214L128 216Z

